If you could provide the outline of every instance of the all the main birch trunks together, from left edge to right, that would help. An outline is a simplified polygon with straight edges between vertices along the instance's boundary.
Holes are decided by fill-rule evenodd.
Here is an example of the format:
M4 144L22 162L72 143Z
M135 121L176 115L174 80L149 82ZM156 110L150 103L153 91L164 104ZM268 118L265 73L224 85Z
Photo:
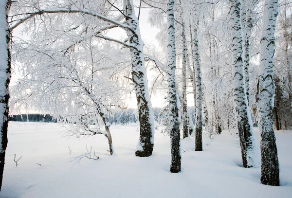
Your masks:
M4 169L5 149L7 146L7 127L8 127L8 101L9 101L9 82L11 74L11 57L10 57L10 42L11 31L26 20L33 18L36 15L51 14L51 13L79 13L98 18L106 21L112 26L119 27L128 35L128 43L118 41L113 38L100 36L113 42L124 45L129 48L131 54L131 80L136 92L138 101L139 122L140 122L140 138L136 149L136 156L148 157L152 154L154 145L154 119L148 93L148 86L146 80L145 57L143 50L143 41L140 35L139 19L134 13L134 5L132 0L124 0L122 13L125 22L120 23L118 20L108 18L99 13L93 13L87 10L78 10L64 8L61 10L37 10L35 12L26 13L24 18L17 20L10 28L8 27L8 12L12 1L1 0L1 14L0 14L0 31L1 36L5 38L0 39L0 182L2 182L2 175ZM169 107L169 134L171 142L171 166L170 172L178 173L181 171L181 146L180 146L180 119L178 107L178 88L176 81L176 47L175 47L175 16L174 16L175 0L167 0L166 18L167 18L167 82L168 82L168 107ZM112 5L112 4L111 4ZM116 8L115 6L113 6ZM248 27L246 34L243 34L242 21L240 16L240 0L230 0L230 23L232 34L232 60L233 60L233 82L234 82L234 102L237 112L237 128L240 139L242 161L244 167L253 167L254 164L254 140L251 114L249 112L249 36L251 25L250 13L251 9L244 11L247 16L245 22ZM252 7L252 5L250 6ZM262 39L260 42L260 73L259 73L259 91L258 91L258 112L261 136L261 182L268 185L279 185L279 167L277 159L277 148L275 144L275 136L273 131L273 97L274 97L274 79L273 79L273 56L274 56L274 30L277 16L278 2L277 0L265 0ZM117 9L117 8L116 8ZM192 59L193 59L193 84L195 85L194 95L196 104L196 151L202 151L202 75L201 64L198 47L198 26L199 21L190 27L192 33ZM187 126L188 118L186 113L185 100L185 70L188 64L188 55L185 47L185 30L184 23L182 25L182 40L183 47L183 137L188 136L189 127ZM104 28L107 30L107 28ZM242 37L245 35L245 37ZM78 76L78 75L77 75ZM80 83L81 84L81 83ZM82 85L81 85L82 86ZM105 118L105 114L101 108L101 102L94 98L91 89L84 85L86 94L91 97L96 111L102 117L102 121L106 127L106 134L104 134L110 145L110 154L113 153L110 125ZM92 88L92 87L91 87ZM205 111L205 109L204 109ZM216 115L216 119L219 115ZM205 117L206 119L206 117ZM205 120L205 124L207 121ZM218 131L221 132L220 125ZM101 134L95 132L96 134ZM1 185L1 183L0 183Z

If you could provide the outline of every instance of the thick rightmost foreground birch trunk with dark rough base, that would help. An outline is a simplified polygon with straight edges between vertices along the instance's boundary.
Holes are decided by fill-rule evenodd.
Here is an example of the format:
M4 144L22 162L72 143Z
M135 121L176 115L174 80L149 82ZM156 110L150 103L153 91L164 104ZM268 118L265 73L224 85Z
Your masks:
M262 39L260 41L259 100L261 183L279 185L279 162L273 130L274 106L274 32L278 1L265 0Z

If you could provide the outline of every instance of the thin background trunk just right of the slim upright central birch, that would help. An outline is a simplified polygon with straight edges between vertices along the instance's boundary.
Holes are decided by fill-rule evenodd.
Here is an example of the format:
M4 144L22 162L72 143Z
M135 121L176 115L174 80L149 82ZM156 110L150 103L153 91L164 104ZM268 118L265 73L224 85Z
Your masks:
M183 61L182 61L182 92L183 92L183 138L188 137L189 121L186 102L186 38L184 23L182 25Z

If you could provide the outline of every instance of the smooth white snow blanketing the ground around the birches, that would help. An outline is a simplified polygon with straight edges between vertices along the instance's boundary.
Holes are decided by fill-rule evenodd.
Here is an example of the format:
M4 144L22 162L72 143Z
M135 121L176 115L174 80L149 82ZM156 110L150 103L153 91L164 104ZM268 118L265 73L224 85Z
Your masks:
M275 187L260 184L259 168L240 167L238 138L229 131L212 142L203 137L202 152L194 151L194 137L182 140L182 172L174 174L169 137L159 130L153 155L139 158L137 126L111 126L116 156L109 155L102 135L68 138L62 137L64 129L9 123L0 198L292 198L292 131L276 131L281 186ZM99 159L75 163L86 145ZM14 154L16 160L22 156L17 167Z

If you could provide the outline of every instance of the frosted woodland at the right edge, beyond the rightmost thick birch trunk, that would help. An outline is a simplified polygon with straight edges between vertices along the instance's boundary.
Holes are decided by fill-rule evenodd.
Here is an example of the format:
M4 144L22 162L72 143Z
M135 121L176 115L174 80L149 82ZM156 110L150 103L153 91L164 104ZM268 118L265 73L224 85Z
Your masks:
M275 30L274 55L274 118L276 130L292 126L292 18L288 0L279 1L277 27Z

